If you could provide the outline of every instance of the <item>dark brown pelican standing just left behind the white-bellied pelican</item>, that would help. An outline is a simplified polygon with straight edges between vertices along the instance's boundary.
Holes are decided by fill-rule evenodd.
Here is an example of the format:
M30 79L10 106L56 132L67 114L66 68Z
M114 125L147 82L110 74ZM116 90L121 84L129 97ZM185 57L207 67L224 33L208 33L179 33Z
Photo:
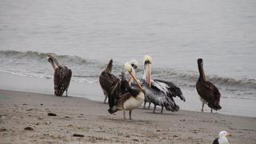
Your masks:
M99 77L99 83L105 95L104 103L106 103L106 98L109 98L111 86L113 86L114 82L119 81L119 79L115 77L114 74L111 74L112 66L113 59L110 59L110 62L106 66L106 69L102 71L102 74Z

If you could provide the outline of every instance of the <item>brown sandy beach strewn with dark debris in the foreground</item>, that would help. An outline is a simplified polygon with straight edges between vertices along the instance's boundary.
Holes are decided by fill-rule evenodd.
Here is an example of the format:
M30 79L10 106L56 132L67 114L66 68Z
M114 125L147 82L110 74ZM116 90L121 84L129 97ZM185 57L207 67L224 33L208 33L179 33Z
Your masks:
M206 144L220 130L232 134L230 143L256 143L256 118L186 110L152 114L139 108L133 120L123 120L121 111L110 115L107 109L107 104L86 98L0 90L0 143Z

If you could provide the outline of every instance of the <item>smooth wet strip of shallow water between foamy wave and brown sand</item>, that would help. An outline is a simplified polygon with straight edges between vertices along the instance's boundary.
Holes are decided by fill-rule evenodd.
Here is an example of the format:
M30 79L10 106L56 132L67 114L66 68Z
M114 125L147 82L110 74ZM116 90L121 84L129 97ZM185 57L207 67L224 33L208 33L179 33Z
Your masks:
M41 94L54 94L54 84L52 78L33 78L0 72L0 89L2 90L18 90L23 92L35 92ZM24 83L26 82L26 83ZM182 88L182 87L181 87ZM174 98L175 102L180 106L181 110L201 111L202 102L196 90L182 89L186 102L182 102L179 98ZM104 96L102 89L98 83L74 82L71 79L68 95L78 98L88 98L90 100L103 102ZM222 110L218 110L219 114L239 115L256 118L256 110L254 105L256 100L242 98L224 98L222 94L221 106ZM205 106L205 112L210 112L210 108ZM216 113L216 111L214 111Z

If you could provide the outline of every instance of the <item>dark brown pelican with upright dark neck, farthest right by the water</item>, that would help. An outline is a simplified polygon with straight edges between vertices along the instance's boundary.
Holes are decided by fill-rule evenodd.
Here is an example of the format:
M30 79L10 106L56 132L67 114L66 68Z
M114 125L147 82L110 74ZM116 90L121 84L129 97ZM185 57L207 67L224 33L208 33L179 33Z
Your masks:
M196 89L198 90L198 94L202 100L202 112L204 104L208 104L210 107L210 112L214 110L222 109L222 106L219 105L219 100L221 98L221 94L218 91L217 87L214 86L211 82L206 80L205 72L202 66L202 58L198 58L198 70L199 70L199 78L196 84Z

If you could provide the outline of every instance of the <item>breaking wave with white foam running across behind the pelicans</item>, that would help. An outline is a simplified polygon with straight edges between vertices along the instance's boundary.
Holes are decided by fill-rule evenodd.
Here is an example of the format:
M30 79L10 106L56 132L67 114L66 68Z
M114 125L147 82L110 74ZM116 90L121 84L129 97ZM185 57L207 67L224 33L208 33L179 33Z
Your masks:
M1 69L10 71L13 74L32 75L45 78L52 77L52 70L47 62L47 55L51 54L58 59L58 61L66 66L69 66L74 73L74 80L78 82L98 82L98 76L105 68L107 62L98 62L96 60L90 60L80 58L75 55L58 55L54 53L39 53L35 51L14 51L4 50L0 51L0 64ZM37 67L38 66L38 67ZM45 67L44 67L45 66ZM10 69L15 67L16 69ZM33 67L33 69L31 69ZM139 66L142 67L142 66ZM19 71L20 69L20 71ZM123 70L122 63L114 62L113 73L120 74ZM138 69L138 78L142 78L143 70ZM152 70L153 78L164 78L178 82L185 86L195 86L195 82L198 80L197 71L178 71L173 69L154 69ZM210 82L217 84L218 86L229 87L230 90L239 89L254 89L256 90L255 79L235 79L235 78L223 78L218 75L210 75L207 77ZM88 80L89 79L89 80Z

